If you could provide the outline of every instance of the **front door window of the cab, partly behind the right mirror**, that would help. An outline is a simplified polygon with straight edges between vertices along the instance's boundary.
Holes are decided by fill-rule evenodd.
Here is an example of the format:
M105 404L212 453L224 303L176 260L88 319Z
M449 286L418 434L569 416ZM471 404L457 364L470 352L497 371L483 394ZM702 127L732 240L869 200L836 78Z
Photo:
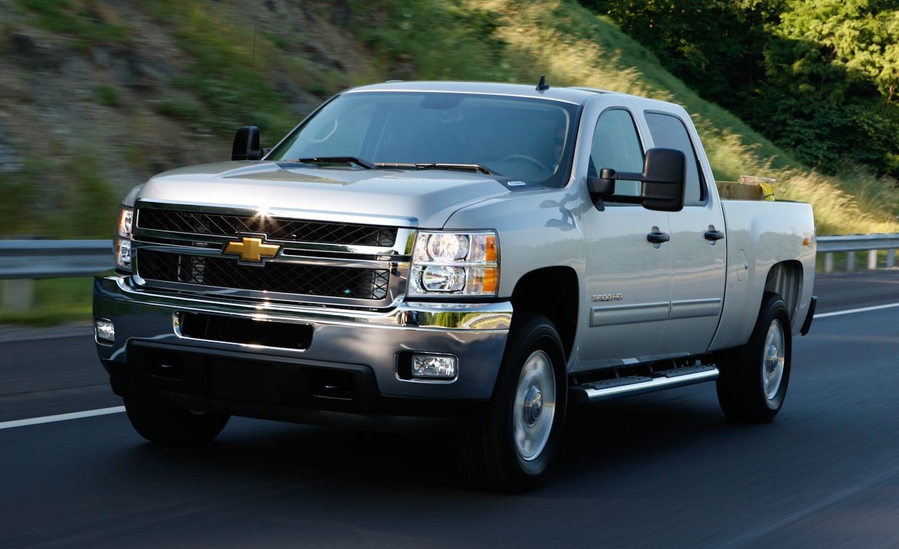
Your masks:
M589 175L596 177L603 168L616 172L643 172L643 146L640 145L634 119L628 111L605 111L596 122L590 149ZM615 194L639 196L640 186L640 182L617 181Z

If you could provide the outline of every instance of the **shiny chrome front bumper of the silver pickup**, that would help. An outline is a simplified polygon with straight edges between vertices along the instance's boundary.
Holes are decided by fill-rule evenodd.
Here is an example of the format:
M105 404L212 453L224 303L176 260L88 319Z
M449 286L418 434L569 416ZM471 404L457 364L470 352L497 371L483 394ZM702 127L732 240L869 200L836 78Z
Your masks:
M174 319L178 313L191 312L304 323L313 328L312 342L305 350L291 350L183 338ZM127 365L131 341L171 344L185 350L238 350L259 359L292 359L298 365L309 361L319 366L367 366L381 395L454 400L490 398L512 323L509 302L404 302L387 312L250 304L153 293L133 287L130 278L119 273L94 279L93 314L115 324L115 341L111 345L97 343L106 364ZM397 356L408 351L455 355L458 376L451 382L401 379L396 371Z

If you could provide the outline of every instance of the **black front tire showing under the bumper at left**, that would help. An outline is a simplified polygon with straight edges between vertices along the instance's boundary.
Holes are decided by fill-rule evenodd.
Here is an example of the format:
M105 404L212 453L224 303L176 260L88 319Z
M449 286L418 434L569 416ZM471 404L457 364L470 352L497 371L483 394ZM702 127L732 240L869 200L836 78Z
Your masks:
M125 412L138 434L150 442L175 446L206 444L225 429L231 416L170 408L136 398L125 398Z

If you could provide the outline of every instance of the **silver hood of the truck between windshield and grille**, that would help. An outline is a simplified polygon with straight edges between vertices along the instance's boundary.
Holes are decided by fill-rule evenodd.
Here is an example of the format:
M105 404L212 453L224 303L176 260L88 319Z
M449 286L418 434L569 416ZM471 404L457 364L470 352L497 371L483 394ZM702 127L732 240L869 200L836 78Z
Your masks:
M440 228L459 208L510 192L481 173L223 162L160 173L136 198L262 209L276 217Z

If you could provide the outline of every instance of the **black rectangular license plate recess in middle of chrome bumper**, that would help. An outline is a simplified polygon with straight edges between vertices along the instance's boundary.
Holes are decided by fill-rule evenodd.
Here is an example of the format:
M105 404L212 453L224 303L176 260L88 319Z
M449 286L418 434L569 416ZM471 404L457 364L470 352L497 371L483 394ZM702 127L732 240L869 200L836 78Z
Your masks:
M176 313L175 332L182 338L306 350L312 344L313 327L303 323L258 320L244 316Z

